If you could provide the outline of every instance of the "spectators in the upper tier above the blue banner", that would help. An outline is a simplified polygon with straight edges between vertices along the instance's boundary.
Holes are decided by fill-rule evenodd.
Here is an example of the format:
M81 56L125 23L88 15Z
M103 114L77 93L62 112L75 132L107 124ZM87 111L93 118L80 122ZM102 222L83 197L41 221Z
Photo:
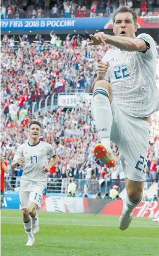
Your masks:
M21 1L9 0L1 4L1 18L46 18L46 17L96 17L110 16L120 6L138 7L138 15L145 16L149 12L157 16L159 3L153 0L143 0L141 6L136 6L137 1L133 0L112 0L112 1L83 1L83 0L57 0L52 1Z

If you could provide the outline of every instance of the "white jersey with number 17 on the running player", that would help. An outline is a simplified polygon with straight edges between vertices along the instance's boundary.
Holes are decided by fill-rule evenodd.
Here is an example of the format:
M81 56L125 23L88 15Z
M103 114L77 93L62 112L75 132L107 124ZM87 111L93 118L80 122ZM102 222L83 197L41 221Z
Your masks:
M46 184L47 173L42 170L48 165L48 157L54 157L55 150L46 142L39 141L36 145L30 145L29 142L18 147L13 161L17 161L20 157L25 157L23 174L21 177L22 184L25 182L36 182Z

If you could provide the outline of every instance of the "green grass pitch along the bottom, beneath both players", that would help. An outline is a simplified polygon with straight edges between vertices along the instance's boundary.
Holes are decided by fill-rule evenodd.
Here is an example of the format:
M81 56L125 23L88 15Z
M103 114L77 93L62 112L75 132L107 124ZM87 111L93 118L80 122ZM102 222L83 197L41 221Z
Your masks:
M120 231L117 216L39 212L40 232L34 246L25 246L21 211L2 210L2 256L147 256L159 255L159 224L133 218Z

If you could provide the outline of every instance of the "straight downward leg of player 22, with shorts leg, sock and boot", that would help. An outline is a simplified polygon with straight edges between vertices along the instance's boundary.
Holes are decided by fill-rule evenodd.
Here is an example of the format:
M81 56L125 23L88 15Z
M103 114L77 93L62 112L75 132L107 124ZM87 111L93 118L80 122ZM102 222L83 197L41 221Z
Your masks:
M124 171L127 191L123 204L119 228L129 227L133 209L142 200L147 168L150 123L136 117L123 116L122 141L119 145L119 168Z

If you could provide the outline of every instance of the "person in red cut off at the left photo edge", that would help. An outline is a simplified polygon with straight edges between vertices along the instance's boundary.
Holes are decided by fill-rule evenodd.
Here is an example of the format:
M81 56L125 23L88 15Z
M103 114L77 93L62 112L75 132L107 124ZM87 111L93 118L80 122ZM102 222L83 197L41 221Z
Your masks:
M4 157L1 155L1 209L4 201L4 192L5 192L5 172L9 173L7 162Z

